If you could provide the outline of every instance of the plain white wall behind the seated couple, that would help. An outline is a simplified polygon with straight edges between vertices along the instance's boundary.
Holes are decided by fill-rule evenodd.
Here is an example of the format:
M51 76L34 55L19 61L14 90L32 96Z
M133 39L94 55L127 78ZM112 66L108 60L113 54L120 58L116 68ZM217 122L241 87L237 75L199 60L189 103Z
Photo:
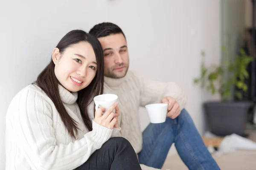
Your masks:
M0 169L5 165L4 118L12 97L35 80L64 34L88 31L103 21L125 32L131 69L181 85L189 97L186 108L204 131L201 104L211 96L192 79L200 73L202 49L207 62L219 62L220 0L6 0L0 2L0 17ZM144 129L148 119L142 112Z

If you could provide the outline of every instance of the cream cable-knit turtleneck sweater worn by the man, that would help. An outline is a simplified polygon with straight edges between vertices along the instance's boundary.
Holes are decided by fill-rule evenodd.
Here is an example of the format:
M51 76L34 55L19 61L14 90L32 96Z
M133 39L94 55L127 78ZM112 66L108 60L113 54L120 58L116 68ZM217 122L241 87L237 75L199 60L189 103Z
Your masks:
M140 130L139 108L151 103L160 103L162 97L172 96L182 110L187 97L174 82L156 82L143 79L138 74L128 71L125 77L113 79L105 77L104 93L116 94L119 100L119 125L122 128L119 136L124 137L136 153L142 150L142 132Z

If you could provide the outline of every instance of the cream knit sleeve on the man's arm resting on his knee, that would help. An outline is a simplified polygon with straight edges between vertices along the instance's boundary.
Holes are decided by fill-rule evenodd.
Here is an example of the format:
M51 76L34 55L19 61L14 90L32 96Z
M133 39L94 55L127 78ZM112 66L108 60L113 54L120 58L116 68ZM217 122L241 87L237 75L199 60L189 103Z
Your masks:
M136 75L136 76L135 76ZM140 105L160 103L164 96L173 97L182 110L187 101L184 91L175 82L157 82L144 79L139 74L134 74L140 87Z

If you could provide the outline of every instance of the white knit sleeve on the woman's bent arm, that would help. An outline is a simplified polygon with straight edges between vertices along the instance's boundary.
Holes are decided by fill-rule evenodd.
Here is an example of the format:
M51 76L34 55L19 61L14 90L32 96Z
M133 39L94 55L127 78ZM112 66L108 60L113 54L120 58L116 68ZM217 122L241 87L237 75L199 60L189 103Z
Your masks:
M113 130L93 121L93 130L82 139L57 144L47 102L37 91L24 90L15 96L7 112L16 142L32 169L73 170L111 137Z

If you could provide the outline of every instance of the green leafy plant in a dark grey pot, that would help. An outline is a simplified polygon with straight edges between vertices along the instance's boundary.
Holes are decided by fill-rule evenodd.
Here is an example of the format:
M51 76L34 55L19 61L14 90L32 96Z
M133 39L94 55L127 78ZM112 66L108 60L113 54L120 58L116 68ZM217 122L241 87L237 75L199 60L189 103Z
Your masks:
M225 51L225 48L222 50ZM221 101L204 103L209 130L218 136L232 133L244 136L247 112L253 102L234 101L232 96L241 100L241 91L248 90L245 84L245 80L249 78L247 66L253 61L253 57L241 49L239 55L224 57L220 65L207 67L204 51L201 55L201 75L194 79L194 83L201 84L201 88L206 88L212 95L218 93L221 96Z

